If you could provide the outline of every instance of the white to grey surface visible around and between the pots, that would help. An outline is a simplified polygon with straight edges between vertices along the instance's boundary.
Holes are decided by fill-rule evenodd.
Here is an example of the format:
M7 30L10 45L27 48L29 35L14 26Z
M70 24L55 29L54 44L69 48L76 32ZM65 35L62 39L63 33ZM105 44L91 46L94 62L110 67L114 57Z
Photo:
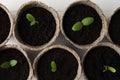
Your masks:
M12 15L14 16L14 18L16 18L16 12L19 9L19 7L28 1L33 1L33 0L0 0L0 3L4 4L12 13ZM72 2L76 1L76 0L38 0L41 1L43 3L46 3L48 6L53 7L54 9L56 9L59 13L59 15L62 15L62 12L64 11L64 9ZM105 14L105 16L107 18L109 18L113 12L120 7L120 0L91 0L94 3L96 3L103 11L103 13ZM82 58L82 55L85 51L83 50L79 50L75 47L73 47L68 41L66 41L64 39L64 37L60 34L59 38L55 41L54 44L64 44L67 45L71 48L73 48L74 50L76 50L78 52L78 54L80 55L80 57ZM10 41L7 44L16 44L14 39L11 38ZM32 52L32 54L29 54L31 60L33 61L34 57L36 56L36 54L34 55L34 57L31 57L31 55L33 56L33 54L35 54L35 52ZM33 80L36 80L35 78ZM83 80L81 78L81 80Z

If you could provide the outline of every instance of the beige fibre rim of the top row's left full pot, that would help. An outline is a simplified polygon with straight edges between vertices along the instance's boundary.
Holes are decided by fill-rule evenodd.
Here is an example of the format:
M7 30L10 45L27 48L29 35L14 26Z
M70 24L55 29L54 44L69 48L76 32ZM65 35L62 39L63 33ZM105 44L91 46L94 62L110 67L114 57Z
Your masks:
M38 7L43 7L44 9L48 10L49 12L52 13L53 17L55 18L55 21L56 21L56 30L55 30L55 33L54 33L54 36L52 37L52 39L44 44L44 45L41 45L41 46L31 46L31 45L26 45L26 44L23 44L22 41L18 40L16 38L16 32L15 32L15 26L14 26L14 30L13 30L13 36L17 42L18 45L20 45L21 47L25 48L25 49L29 49L29 50L34 50L34 51L38 51L38 50L42 50L50 45L53 44L53 42L57 39L57 37L59 36L59 32L60 32L60 29L59 29L59 26L60 26L60 19L59 19L59 15L57 13L57 11L55 9L53 9L52 7L48 7L46 4L40 2L40 1L29 1L27 3L24 3L21 5L21 7L19 8L18 12L17 12L17 18L19 16L19 13L21 10L23 10L23 8L25 8L26 6L28 5L34 5L35 6L38 6Z

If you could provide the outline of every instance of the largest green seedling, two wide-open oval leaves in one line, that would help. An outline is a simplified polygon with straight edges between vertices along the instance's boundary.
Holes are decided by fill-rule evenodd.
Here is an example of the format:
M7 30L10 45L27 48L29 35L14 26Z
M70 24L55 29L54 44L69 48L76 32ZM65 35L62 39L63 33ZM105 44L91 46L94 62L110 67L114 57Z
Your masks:
M84 19L82 19L82 21L78 21L76 22L73 26L72 26L72 30L73 31L79 31L82 29L83 26L89 26L94 22L94 18L93 17L86 17Z

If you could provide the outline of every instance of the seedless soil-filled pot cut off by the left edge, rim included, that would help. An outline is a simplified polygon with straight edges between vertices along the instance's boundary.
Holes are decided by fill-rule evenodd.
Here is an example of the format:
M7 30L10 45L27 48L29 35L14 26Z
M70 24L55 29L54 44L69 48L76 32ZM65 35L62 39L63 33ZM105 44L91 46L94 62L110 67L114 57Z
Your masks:
M4 5L0 4L0 47L4 46L10 39L13 24L14 20L11 13Z

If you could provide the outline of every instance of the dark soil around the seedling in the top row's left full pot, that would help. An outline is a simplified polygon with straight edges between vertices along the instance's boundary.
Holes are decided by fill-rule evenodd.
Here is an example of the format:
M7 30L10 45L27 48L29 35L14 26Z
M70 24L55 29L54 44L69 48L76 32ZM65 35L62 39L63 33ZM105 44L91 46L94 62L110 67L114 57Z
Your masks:
M26 14L32 14L39 23L30 26ZM17 21L17 31L20 39L32 46L40 46L49 42L56 29L55 19L49 11L41 7L30 7L21 11Z

